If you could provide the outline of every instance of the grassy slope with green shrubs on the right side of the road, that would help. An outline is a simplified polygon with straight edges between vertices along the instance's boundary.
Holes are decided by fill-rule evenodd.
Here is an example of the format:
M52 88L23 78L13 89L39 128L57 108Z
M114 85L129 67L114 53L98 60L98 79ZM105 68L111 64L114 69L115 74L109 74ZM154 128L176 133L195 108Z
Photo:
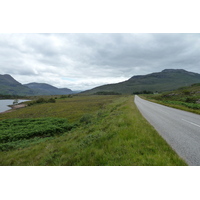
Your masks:
M175 91L141 97L173 108L200 114L200 84L193 84Z

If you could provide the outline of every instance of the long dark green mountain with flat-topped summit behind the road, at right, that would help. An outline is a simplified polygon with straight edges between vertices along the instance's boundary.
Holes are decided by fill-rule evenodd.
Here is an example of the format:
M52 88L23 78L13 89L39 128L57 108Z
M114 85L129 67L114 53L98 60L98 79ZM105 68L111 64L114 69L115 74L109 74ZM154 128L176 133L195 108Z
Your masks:
M200 83L200 74L183 69L165 69L162 72L133 76L124 82L99 86L82 92L82 94L95 94L99 92L133 94L134 92L144 90L164 92L189 86L193 83Z

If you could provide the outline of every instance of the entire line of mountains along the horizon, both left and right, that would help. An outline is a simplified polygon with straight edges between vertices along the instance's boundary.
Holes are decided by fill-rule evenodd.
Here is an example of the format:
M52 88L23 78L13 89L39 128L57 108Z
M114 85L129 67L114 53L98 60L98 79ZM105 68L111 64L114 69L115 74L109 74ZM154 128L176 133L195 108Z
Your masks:
M146 75L132 76L130 79L113 84L106 84L95 87L80 94L133 94L141 91L165 92L200 83L200 74L189 72L184 69L164 69L161 72L154 72ZM69 88L56 88L47 83L28 83L22 85L11 75L0 75L0 94L8 95L64 95L74 94Z

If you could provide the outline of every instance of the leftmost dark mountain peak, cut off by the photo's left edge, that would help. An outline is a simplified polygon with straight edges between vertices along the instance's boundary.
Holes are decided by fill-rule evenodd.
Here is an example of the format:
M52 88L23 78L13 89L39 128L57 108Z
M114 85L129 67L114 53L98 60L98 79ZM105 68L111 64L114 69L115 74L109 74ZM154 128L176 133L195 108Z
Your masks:
M3 95L34 95L34 91L16 81L9 74L0 75L0 94Z

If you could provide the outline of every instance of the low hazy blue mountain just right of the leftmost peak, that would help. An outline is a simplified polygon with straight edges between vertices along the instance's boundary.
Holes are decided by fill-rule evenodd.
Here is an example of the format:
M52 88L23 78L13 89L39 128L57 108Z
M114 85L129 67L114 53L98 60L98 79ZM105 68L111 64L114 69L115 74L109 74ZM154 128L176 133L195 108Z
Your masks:
M32 89L37 95L64 95L72 94L73 91L68 88L57 88L46 83L28 83L24 86Z

